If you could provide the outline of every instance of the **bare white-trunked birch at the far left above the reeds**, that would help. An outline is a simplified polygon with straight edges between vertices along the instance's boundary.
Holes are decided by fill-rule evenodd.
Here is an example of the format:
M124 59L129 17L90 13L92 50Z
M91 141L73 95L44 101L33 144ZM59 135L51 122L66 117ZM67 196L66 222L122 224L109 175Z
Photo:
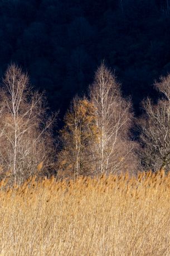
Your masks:
M47 118L45 97L32 92L28 76L12 64L3 79L0 99L0 163L4 173L11 170L14 181L54 164L51 133L52 118Z

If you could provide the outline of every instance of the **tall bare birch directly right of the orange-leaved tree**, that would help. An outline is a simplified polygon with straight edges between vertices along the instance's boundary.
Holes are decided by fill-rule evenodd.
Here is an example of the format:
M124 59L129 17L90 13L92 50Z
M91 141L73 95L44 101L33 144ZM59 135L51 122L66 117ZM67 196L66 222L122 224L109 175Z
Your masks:
M130 141L133 113L130 100L125 100L115 76L104 64L98 68L90 100L95 106L96 126L99 129L94 159L99 173L133 170L137 165ZM137 167L137 166L136 166Z

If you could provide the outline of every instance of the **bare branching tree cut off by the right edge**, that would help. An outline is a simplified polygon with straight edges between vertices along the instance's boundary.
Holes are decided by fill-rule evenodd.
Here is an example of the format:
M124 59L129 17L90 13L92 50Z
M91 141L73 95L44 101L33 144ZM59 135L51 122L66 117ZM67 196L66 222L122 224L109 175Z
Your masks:
M139 119L141 164L144 169L170 169L170 75L155 84L163 95L157 104L143 102L144 115Z

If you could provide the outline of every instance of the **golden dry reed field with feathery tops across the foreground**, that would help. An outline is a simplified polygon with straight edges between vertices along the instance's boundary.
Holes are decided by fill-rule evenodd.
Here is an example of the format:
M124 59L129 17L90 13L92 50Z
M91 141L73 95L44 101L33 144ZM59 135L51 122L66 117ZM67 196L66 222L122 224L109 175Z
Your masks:
M170 173L1 181L0 255L170 255Z

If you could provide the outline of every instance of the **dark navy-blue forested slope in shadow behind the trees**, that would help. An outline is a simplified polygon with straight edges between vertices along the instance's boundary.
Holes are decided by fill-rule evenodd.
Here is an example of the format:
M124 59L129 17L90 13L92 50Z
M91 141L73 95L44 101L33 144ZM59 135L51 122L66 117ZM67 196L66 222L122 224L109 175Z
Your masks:
M101 60L139 103L170 71L168 0L1 0L0 76L15 62L61 117Z

